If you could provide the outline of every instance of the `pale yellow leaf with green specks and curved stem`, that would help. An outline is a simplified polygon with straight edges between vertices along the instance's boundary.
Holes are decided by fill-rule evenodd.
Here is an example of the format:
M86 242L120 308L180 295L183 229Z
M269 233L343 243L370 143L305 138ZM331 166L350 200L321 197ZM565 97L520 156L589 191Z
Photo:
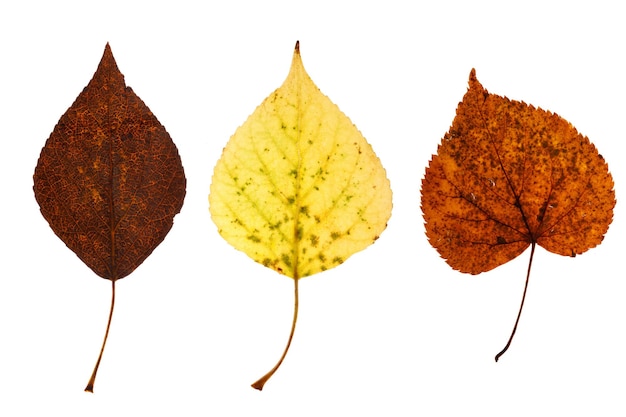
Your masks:
M235 132L215 166L211 217L236 249L298 280L333 268L372 244L391 215L385 170L365 138L304 70L291 70Z

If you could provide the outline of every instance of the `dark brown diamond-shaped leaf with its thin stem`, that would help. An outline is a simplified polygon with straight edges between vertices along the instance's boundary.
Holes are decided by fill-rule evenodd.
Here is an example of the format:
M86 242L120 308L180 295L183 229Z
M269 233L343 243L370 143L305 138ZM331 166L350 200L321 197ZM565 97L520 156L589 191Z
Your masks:
M56 235L97 275L115 282L163 241L185 197L174 142L126 87L109 44L93 78L61 116L41 151L35 198Z

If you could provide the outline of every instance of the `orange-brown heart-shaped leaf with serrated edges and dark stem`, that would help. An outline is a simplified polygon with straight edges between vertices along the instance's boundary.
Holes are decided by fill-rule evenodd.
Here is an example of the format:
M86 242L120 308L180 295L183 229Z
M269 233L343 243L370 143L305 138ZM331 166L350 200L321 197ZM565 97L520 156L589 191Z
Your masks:
M613 219L613 179L589 139L556 114L489 94L470 73L422 180L431 245L454 269L479 274L535 245L575 256L599 245Z

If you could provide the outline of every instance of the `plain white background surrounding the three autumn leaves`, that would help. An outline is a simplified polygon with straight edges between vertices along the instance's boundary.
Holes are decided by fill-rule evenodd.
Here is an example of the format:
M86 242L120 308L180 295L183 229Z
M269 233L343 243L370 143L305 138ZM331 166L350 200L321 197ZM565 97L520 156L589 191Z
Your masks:
M366 4L367 3L367 4ZM619 2L5 2L0 6L0 415L346 416L626 413L625 13ZM11 4L8 6L7 4ZM394 191L387 230L301 282L230 247L210 220L213 166L237 126L304 65L363 132ZM95 394L83 392L110 283L53 234L32 174L110 42L177 144L188 187L165 241L117 285ZM554 111L616 183L615 220L576 258L529 251L453 271L419 208L430 156L476 68L492 93Z

